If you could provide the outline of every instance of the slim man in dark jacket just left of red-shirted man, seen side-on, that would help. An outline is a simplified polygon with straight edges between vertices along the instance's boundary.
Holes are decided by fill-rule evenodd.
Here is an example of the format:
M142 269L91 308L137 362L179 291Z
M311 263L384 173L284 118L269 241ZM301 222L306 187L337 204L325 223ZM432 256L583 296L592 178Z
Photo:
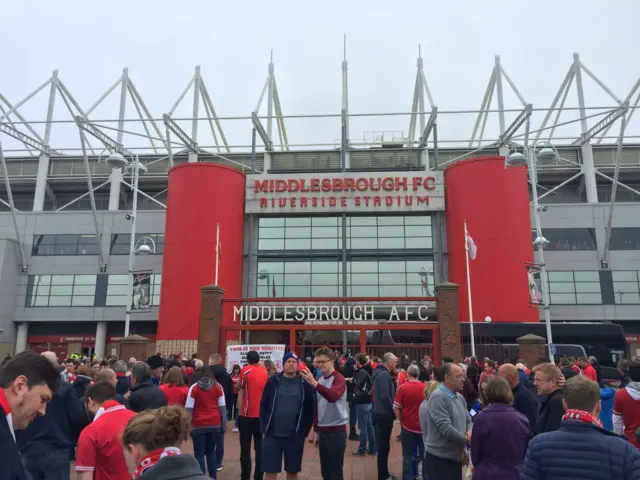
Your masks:
M389 450L395 420L393 400L396 392L390 372L395 370L397 362L398 358L393 353L385 353L382 363L373 371L373 427L378 447L378 480L393 478L389 472Z

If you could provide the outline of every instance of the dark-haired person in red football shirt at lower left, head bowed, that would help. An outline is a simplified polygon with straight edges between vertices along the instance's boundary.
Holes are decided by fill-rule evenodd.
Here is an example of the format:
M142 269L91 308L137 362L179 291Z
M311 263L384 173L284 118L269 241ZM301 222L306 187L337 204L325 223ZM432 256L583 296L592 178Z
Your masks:
M116 387L96 382L84 394L93 422L78 440L76 472L78 480L122 480L131 478L120 438L135 413L116 400Z

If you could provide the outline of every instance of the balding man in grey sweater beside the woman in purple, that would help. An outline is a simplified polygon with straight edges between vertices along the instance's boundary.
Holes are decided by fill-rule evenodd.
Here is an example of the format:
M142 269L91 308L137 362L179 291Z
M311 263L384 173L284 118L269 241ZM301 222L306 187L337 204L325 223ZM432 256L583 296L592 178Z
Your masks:
M440 367L440 388L427 402L427 478L460 480L464 447L471 441L471 417L460 394L465 375L455 363Z

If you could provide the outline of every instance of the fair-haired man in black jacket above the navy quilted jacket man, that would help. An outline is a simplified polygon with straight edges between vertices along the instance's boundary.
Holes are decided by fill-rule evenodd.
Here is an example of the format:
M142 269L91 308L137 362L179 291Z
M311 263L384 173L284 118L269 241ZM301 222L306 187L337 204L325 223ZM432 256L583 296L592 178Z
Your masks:
M560 428L560 422L564 415L562 387L559 385L564 377L560 369L553 363L536 365L533 368L533 374L538 395L543 397L534 434L553 432Z

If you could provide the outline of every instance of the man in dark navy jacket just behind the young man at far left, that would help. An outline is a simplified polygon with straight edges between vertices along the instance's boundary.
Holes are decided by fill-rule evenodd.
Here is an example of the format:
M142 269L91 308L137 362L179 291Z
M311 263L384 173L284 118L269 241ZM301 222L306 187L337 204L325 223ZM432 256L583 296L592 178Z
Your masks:
M55 353L44 352L42 356L57 367ZM69 459L75 444L71 426L87 424L84 406L76 399L71 384L61 383L45 415L37 417L25 430L16 432L18 449L31 476L69 478Z

